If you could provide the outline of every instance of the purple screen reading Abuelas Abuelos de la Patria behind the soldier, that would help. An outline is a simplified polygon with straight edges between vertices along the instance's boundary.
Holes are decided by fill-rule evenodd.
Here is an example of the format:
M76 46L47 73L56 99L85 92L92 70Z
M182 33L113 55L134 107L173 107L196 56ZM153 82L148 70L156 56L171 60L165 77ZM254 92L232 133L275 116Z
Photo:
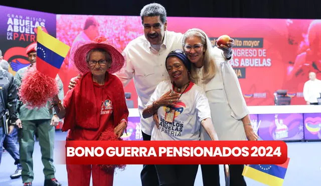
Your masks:
M38 26L56 36L56 15L4 6L0 6L0 12L0 50L10 64L9 72L15 75L30 64L26 50L37 42Z

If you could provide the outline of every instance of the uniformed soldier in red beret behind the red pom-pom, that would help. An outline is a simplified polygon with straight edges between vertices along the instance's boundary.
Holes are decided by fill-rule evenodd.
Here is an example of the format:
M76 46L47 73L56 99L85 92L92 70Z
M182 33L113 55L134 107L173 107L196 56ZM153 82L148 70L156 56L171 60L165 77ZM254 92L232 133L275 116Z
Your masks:
M16 85L19 87L22 83L28 68L36 65L37 59L37 43L31 44L26 52L30 65L19 69L16 73ZM64 97L63 84L59 76L56 77L59 86L59 97ZM21 100L17 102L18 120L16 125L19 128L19 152L20 163L22 165L22 181L24 186L31 186L34 179L33 172L33 151L35 145L35 133L39 136L39 145L41 148L41 159L44 164L45 185L59 186L61 183L55 177L54 159L54 142L55 142L55 126L59 123L59 118L54 113L53 109L48 109L50 102L47 105L37 109L29 109Z

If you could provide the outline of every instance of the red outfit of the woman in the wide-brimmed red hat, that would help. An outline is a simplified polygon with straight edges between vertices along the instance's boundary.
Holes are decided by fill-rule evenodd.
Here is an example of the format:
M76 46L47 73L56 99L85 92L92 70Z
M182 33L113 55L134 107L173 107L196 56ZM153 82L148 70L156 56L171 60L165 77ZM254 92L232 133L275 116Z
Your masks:
M111 74L106 75L104 85L99 85L92 81L91 72L86 73L66 94L63 105L67 140L107 140L106 137L114 137L108 135L115 135L113 130L120 121L128 118L123 86ZM113 172L99 165L73 165L67 161L67 172L68 185L89 185L91 173L94 186L113 184Z

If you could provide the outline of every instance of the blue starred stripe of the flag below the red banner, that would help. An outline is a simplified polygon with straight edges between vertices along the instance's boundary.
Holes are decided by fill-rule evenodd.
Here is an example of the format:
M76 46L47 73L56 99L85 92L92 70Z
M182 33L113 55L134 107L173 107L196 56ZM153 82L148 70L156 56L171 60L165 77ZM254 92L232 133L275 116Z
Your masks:
M282 178L284 179L285 177L285 173L286 173L286 168L281 167L281 166L277 166L275 164L262 164L262 165L258 165L258 164L251 164L249 165L252 168L255 168L261 172L270 174L270 175L274 175L276 177Z

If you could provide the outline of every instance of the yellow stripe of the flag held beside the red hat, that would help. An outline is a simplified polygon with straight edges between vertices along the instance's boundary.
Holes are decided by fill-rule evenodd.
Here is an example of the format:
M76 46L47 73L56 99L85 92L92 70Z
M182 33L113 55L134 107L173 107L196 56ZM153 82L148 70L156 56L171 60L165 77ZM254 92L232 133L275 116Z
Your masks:
M45 33L41 27L38 27L37 42L47 47L49 50L57 53L61 57L65 58L68 54L70 47L56 38Z

